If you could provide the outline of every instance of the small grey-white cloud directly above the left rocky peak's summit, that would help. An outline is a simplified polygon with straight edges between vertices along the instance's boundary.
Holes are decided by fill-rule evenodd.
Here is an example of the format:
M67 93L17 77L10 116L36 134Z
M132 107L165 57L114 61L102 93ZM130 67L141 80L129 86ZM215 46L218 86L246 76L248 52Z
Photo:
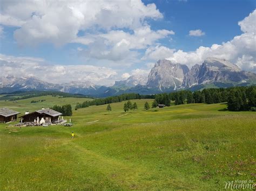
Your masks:
M146 49L145 55L143 56L142 60L159 60L159 59L165 59L169 58L175 49L170 49L165 46L155 46L155 47L149 47Z

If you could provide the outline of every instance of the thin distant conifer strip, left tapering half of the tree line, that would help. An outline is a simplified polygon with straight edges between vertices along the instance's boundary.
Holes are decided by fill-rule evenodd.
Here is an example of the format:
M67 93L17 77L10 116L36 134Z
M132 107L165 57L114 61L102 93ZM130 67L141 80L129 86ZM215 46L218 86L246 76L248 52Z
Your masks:
M118 96L111 96L106 98L98 98L96 100L85 101L83 103L77 103L76 110L79 108L86 108L91 105L104 105L110 103L117 103L127 100L140 100L140 99L154 99L155 95L140 95L140 94L122 94Z

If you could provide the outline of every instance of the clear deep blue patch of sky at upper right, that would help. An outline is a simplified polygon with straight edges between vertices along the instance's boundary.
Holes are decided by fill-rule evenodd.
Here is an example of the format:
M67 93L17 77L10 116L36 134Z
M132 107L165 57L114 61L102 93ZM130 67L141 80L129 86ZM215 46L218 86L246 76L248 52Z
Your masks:
M211 46L231 40L241 34L238 22L255 9L256 1L143 1L156 3L164 19L152 22L153 29L167 29L176 32L167 46L184 51L194 51L198 46ZM188 31L201 29L206 35L191 38ZM163 42L165 43L165 42Z

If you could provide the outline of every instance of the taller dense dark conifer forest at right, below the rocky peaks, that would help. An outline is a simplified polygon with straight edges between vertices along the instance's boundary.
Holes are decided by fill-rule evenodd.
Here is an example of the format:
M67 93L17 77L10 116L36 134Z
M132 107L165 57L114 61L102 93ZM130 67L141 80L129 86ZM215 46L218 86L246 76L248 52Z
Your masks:
M231 87L231 88L209 88L199 91L180 90L170 94L157 94L152 108L158 104L170 106L171 101L176 105L185 103L223 103L227 102L228 110L256 110L256 86Z

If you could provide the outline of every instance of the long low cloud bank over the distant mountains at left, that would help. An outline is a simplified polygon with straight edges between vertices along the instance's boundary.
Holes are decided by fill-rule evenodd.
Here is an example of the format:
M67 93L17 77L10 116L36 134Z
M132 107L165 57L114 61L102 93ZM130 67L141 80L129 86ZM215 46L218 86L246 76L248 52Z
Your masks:
M17 69L18 68L18 69ZM110 84L116 70L92 65L49 65L44 59L0 54L0 76L33 76L47 82L91 81Z

